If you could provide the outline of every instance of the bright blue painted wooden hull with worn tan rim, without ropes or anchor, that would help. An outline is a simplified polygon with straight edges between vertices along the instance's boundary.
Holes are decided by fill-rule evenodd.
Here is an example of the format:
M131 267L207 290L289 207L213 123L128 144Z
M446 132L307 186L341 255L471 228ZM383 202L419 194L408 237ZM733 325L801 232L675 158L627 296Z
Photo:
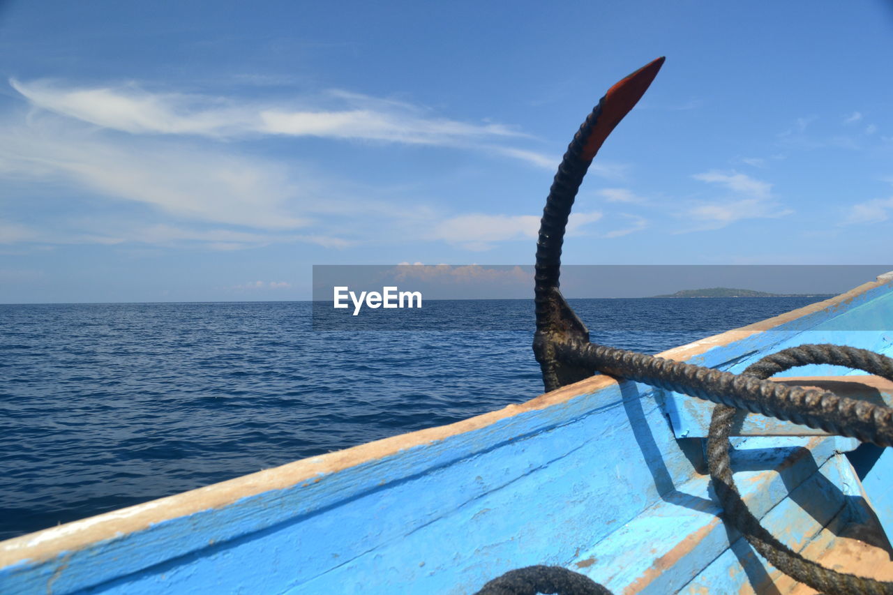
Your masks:
M891 355L889 329L893 281L884 279L664 356L739 372L804 342ZM874 387L884 398L888 389ZM0 592L472 593L536 564L588 574L615 593L800 592L718 516L703 474L711 409L596 376L460 423L5 541ZM849 570L889 570L888 452L847 456L855 440L751 417L733 468L764 526L807 557L855 548L856 566L871 567Z

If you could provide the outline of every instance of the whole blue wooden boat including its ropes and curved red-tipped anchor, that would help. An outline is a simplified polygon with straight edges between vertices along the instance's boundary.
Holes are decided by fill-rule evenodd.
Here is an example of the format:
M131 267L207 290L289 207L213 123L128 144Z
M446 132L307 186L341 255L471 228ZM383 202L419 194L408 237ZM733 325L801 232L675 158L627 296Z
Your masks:
M720 491L797 556L872 579L847 592L890 592L893 381L876 368L893 350L893 272L656 358L589 344L558 290L561 220L661 63L609 90L550 192L535 341L547 392L4 541L0 592L561 592L499 591L531 572L626 595L815 592L756 553L763 534L742 533ZM753 370L767 356L805 365L765 380ZM755 413L716 439L730 405ZM714 448L729 441L723 476ZM573 592L605 592L588 588Z

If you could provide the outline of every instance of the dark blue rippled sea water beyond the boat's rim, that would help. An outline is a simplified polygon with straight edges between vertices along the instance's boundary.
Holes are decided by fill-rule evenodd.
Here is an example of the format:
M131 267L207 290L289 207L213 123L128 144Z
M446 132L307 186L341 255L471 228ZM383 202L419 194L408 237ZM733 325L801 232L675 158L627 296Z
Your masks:
M657 353L817 299L572 305L594 341ZM0 305L0 540L541 392L532 302L425 309L313 331L310 302ZM526 330L431 330L457 316Z

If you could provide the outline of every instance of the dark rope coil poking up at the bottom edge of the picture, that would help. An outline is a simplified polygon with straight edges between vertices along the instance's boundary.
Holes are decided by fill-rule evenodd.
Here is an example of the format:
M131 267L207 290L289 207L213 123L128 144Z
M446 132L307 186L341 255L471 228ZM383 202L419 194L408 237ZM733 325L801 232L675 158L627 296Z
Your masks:
M562 566L527 566L488 582L475 595L612 595L588 576Z

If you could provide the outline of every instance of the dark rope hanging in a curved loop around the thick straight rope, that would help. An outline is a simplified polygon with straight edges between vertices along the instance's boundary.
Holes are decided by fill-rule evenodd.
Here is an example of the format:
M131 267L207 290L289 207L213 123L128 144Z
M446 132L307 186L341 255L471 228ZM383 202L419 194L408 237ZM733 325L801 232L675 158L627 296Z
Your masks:
M846 365L893 381L893 359L866 349L836 345L801 345L784 349L748 366L742 375L765 380L789 368L809 364ZM893 594L893 582L839 573L806 559L775 539L751 514L732 478L729 460L729 436L738 411L730 406L716 406L707 438L707 465L726 521L738 529L772 566L813 589L829 595Z

